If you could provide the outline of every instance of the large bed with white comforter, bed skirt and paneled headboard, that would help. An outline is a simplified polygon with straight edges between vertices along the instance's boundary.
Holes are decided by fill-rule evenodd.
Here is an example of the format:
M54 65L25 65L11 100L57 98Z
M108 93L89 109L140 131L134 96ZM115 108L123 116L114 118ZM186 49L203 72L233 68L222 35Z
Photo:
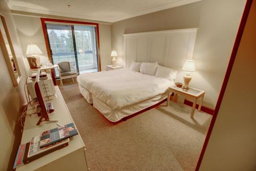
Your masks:
M112 122L137 113L167 98L167 89L182 82L182 66L193 57L197 28L124 34L124 69L81 74L81 94ZM131 71L134 61L158 62L176 71L174 79Z

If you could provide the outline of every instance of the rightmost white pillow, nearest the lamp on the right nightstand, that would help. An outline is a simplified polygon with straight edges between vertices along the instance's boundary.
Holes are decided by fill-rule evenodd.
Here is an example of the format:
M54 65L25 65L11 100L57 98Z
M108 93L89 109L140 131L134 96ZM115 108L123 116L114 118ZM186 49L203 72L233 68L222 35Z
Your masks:
M156 77L165 78L174 81L177 75L177 71L171 68L157 66Z

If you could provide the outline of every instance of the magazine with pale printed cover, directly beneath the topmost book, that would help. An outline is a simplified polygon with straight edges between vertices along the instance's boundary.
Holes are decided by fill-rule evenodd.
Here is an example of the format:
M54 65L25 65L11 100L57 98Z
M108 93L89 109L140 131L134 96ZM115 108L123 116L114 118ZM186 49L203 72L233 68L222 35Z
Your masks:
M67 139L63 139L63 140L57 141L53 144L50 144L50 145L47 145L47 146L44 146L44 147L40 148L40 136L33 137L30 144L29 144L28 158L32 157L32 156L35 156L35 155L38 155L42 152L48 151L51 148L55 148L59 145L65 144L69 141L70 141L69 138L67 138Z

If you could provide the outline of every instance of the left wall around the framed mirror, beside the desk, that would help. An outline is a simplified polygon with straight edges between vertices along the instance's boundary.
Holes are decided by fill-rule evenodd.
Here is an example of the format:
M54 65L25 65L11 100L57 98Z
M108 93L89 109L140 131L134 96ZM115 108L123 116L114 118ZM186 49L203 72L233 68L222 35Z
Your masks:
M22 80L18 87L13 87L2 49L0 48L0 170L12 170L18 143L20 142L21 127L16 124L17 117L25 103L24 84L27 73L24 66L24 57L20 48L13 16L5 3L0 1L0 13L5 17L9 34L12 40Z

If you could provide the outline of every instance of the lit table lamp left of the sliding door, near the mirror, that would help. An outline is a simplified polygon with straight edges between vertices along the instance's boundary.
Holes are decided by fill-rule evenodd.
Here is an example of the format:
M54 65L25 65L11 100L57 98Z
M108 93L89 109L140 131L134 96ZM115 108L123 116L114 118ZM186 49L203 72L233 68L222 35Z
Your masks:
M28 45L26 55L30 69L40 68L40 57L36 56L39 54L42 54L42 51L38 48L37 45Z

